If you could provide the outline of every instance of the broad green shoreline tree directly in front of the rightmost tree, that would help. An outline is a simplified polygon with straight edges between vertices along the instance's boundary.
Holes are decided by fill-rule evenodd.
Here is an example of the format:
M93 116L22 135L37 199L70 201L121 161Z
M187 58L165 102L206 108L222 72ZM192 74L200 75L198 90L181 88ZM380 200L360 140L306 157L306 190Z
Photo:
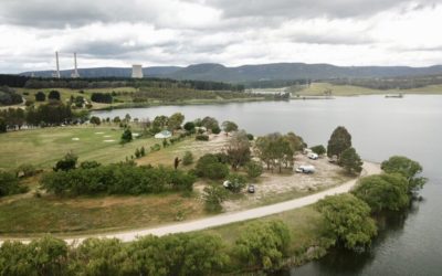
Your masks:
M364 200L373 212L398 211L410 202L408 181L401 174L376 174L361 178L351 191Z

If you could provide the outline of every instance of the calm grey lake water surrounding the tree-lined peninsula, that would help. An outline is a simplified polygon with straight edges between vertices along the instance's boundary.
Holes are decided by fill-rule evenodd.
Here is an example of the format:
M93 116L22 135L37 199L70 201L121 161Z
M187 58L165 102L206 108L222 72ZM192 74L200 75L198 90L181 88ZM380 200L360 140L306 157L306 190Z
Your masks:
M393 155L418 160L428 184L423 200L404 217L392 217L371 252L333 252L287 275L442 275L442 96L338 97L330 100L261 102L225 105L161 106L96 112L99 117L154 119L182 113L186 119L233 120L254 135L294 131L309 145L326 145L337 126L345 126L352 145L370 161Z

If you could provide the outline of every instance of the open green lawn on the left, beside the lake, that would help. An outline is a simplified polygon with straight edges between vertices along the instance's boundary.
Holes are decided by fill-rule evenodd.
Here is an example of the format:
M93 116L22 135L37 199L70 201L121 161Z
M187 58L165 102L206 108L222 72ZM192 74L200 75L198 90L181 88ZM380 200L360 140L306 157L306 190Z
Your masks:
M0 169L13 169L22 163L51 168L71 150L78 156L78 161L118 162L134 155L136 148L144 146L149 149L159 142L154 138L140 138L122 146L122 132L117 126L101 126L41 128L2 134ZM140 130L134 129L133 132Z

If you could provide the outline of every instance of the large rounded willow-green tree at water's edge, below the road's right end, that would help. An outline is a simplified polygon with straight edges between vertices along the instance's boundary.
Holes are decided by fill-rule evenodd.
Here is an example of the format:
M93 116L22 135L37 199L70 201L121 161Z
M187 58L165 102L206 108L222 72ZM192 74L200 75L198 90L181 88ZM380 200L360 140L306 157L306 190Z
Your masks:
M316 204L322 213L323 232L348 250L368 246L377 234L370 206L352 194L326 197Z

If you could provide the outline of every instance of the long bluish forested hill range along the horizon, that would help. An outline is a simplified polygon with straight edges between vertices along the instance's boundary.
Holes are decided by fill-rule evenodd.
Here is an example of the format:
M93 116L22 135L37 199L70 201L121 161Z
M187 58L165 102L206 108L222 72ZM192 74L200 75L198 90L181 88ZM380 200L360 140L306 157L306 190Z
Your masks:
M49 77L53 71L34 72L34 76ZM72 71L62 71L62 76L69 77ZM131 68L99 67L81 68L82 77L129 77ZM22 73L31 75L31 72ZM145 67L145 76L167 77L175 79L215 81L245 83L274 79L328 79L328 78L366 78L422 76L442 74L442 65L429 67L408 66L335 66L330 64L274 63L261 65L243 65L227 67L221 64L196 64L187 67L155 66Z

